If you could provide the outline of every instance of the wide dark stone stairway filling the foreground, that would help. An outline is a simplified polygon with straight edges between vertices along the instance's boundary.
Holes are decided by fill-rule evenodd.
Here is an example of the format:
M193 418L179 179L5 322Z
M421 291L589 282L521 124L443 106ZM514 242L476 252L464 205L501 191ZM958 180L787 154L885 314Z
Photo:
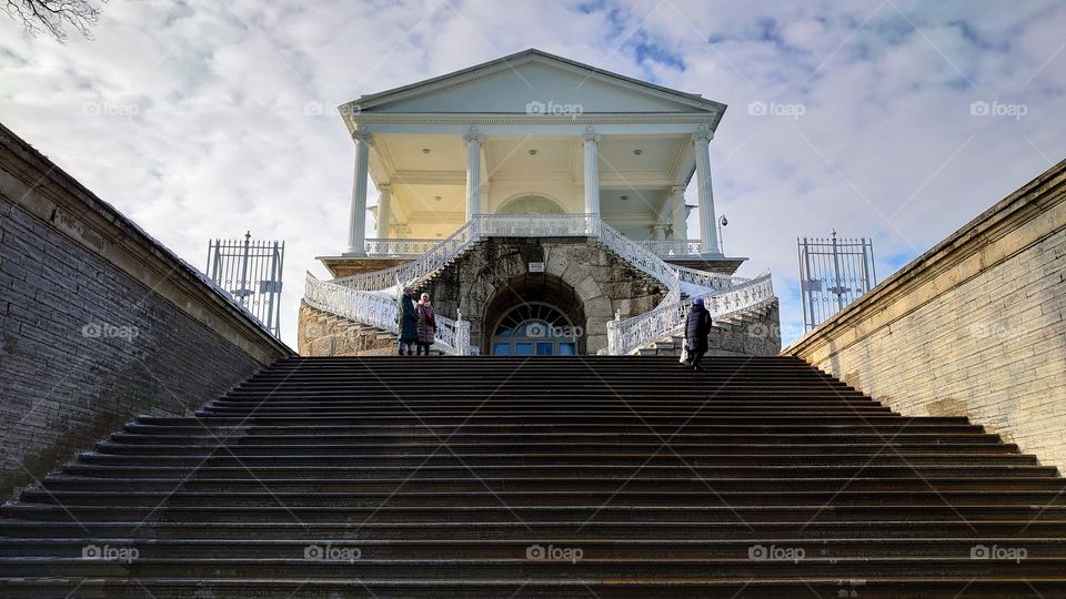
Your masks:
M1066 597L1064 490L790 357L293 358L4 506L0 597Z

